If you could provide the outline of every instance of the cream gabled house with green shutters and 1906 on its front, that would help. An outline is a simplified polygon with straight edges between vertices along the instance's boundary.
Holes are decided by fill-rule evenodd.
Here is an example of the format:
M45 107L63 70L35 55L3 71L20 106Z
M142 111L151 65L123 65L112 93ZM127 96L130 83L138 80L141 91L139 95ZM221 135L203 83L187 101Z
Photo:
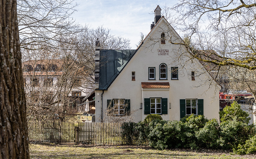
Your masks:
M190 60L183 46L171 44L169 38L182 41L157 6L155 25L151 24L137 50L100 50L96 41L96 121L108 116L141 121L148 114L180 120L192 113L219 119L221 86L200 62Z

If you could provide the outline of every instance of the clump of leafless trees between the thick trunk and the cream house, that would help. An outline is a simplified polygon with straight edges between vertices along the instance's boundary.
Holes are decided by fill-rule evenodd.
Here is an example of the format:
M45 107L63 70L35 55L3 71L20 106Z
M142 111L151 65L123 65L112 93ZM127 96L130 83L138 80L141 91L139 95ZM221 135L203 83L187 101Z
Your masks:
M115 37L103 27L81 30L72 36L62 36L59 49L40 49L36 43L33 47L39 49L24 49L28 119L65 121L84 112L82 98L94 88L96 38L103 40L105 48L129 48L129 40Z

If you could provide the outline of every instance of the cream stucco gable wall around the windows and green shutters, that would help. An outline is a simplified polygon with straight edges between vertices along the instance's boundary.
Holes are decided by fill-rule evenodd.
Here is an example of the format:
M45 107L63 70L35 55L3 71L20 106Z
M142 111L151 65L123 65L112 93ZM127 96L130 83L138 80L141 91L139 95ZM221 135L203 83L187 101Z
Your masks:
M159 38L164 31L166 38L172 35L178 38L174 31L167 33L168 26L165 21L151 31L144 40L144 44L121 71L116 80L103 94L103 112L107 108L108 99L125 98L131 100L131 111L133 121L143 120L144 98L162 97L168 98L168 113L162 115L164 120L180 120L180 99L196 98L204 100L204 116L208 119L219 119L219 89L202 65L195 59L193 63L189 55L184 54L183 48L170 44L161 44ZM152 39L158 39L155 42ZM176 40L178 41L178 40ZM159 49L169 50L169 55L158 55ZM159 80L159 65L167 65L167 80ZM155 67L155 80L148 80L148 67ZM171 80L171 67L178 67L178 80ZM135 71L135 81L132 81L131 72ZM191 71L195 71L195 81L191 80ZM169 82L169 89L142 89L141 82ZM101 90L95 91L96 121L101 121ZM99 95L98 95L99 94ZM140 109L143 103L143 109ZM171 109L169 108L171 104Z

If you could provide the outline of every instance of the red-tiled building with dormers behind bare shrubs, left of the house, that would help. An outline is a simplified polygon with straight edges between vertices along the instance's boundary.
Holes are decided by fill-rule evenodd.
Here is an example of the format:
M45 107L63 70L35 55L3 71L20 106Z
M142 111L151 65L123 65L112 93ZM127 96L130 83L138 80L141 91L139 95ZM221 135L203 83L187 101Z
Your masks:
M69 62L68 65L73 65L73 69L67 69L60 59L23 62L27 103L41 105L42 108L55 111L53 113L62 112L63 105L65 109L72 110L69 113L84 112L82 99L91 92L94 85L86 81L88 75L83 68L76 68L75 62Z

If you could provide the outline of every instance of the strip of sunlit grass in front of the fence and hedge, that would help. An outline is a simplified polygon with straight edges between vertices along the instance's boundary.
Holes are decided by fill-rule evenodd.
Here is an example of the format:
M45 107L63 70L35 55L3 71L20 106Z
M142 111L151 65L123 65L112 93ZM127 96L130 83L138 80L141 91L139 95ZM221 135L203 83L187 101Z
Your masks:
M64 146L30 144L30 159L245 159L256 155L231 155L220 150L154 150L138 146Z

